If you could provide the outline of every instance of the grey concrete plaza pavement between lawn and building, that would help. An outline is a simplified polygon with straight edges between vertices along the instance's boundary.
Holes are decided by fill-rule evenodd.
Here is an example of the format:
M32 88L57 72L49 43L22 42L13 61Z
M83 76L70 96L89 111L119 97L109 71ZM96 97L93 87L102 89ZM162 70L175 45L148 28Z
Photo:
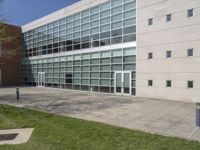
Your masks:
M195 104L66 89L0 88L0 103L92 120L154 134L200 141Z

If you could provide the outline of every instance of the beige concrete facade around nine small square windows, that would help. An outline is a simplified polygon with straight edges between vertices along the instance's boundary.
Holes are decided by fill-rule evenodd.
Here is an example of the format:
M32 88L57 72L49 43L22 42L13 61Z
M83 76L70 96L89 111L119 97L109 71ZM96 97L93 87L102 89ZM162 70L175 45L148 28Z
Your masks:
M187 17L187 10L194 16ZM166 15L172 20L166 22ZM148 19L153 18L153 25ZM187 49L194 56L187 56ZM166 51L172 52L166 58ZM148 59L148 53L153 59ZM137 1L137 88L139 97L180 101L200 99L200 1L138 0ZM153 80L153 86L148 86ZM166 80L172 87L166 87ZM194 87L188 88L187 81Z

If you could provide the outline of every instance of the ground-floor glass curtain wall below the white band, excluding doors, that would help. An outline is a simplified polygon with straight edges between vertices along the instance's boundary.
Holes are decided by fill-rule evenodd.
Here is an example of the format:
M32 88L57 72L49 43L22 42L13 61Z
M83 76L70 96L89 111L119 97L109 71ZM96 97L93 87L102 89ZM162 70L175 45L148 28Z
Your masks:
M136 49L134 47L64 57L24 60L23 82L37 85L45 72L45 86L114 93L114 72L131 71L131 94L135 95Z

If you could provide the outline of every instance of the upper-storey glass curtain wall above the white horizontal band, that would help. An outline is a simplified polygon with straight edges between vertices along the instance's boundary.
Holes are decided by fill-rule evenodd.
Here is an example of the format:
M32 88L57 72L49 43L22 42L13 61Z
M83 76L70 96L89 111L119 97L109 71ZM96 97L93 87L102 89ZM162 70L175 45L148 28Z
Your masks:
M136 41L135 0L111 0L24 33L24 57Z

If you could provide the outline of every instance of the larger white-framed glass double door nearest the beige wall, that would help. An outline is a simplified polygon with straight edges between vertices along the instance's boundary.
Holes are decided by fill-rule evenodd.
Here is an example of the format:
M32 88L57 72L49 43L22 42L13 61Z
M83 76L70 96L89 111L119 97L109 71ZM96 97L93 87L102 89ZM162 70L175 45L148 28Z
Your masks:
M117 71L115 72L115 94L131 95L131 72Z

